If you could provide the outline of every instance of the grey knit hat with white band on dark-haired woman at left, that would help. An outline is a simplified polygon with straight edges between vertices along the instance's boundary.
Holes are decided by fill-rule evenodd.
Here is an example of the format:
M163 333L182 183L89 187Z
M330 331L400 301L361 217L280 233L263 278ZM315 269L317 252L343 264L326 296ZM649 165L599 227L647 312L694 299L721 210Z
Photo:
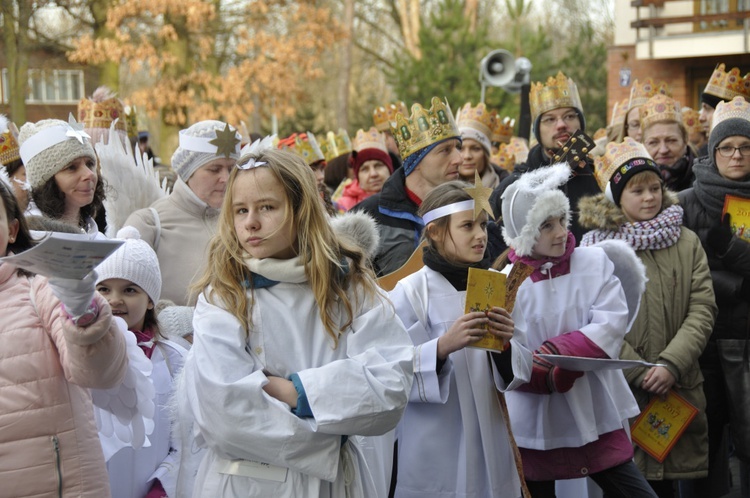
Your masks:
M26 123L21 127L18 142L31 188L47 183L74 159L89 157L96 161L89 136L72 117L67 123L60 119Z

